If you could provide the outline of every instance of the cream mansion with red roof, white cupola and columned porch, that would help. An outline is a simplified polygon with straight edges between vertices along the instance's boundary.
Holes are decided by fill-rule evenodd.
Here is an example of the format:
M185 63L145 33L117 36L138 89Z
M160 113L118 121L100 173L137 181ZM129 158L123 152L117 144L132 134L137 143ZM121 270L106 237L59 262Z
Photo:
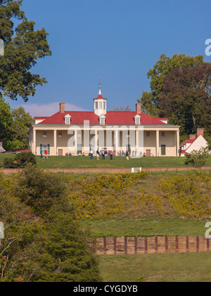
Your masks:
M146 115L141 103L136 103L136 111L107 111L101 86L93 101L92 112L65 110L65 103L60 103L56 114L34 117L29 131L32 153L88 155L98 149L115 155L129 151L134 157L179 156L179 126L168 124L167 118Z

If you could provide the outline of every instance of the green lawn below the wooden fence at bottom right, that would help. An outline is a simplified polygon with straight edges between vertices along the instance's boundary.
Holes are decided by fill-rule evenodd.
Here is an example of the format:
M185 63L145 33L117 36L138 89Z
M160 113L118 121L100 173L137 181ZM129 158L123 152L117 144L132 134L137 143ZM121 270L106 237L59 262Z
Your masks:
M210 282L210 252L97 255L103 282Z

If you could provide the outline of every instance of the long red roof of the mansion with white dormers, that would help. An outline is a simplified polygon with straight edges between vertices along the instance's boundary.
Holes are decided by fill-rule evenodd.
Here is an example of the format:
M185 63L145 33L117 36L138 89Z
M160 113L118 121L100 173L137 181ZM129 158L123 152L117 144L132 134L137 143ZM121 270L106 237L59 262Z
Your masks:
M65 124L65 115L71 116L71 124L84 124L84 120L89 120L89 124L99 124L98 115L89 111L65 111L61 114L57 112L51 117L34 117L35 119L46 118L39 124ZM134 111L108 111L106 113L105 124L135 124ZM153 118L145 113L141 112L141 124L159 124L166 125L165 122L161 122L160 118Z

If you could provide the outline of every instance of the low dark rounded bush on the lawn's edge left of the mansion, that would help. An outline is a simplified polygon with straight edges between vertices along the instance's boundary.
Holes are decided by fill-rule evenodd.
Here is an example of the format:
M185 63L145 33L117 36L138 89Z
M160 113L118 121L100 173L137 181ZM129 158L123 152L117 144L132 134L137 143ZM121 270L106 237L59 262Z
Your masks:
M3 166L6 169L16 169L25 167L28 163L36 165L35 155L32 152L21 152L16 154L14 158L6 157Z

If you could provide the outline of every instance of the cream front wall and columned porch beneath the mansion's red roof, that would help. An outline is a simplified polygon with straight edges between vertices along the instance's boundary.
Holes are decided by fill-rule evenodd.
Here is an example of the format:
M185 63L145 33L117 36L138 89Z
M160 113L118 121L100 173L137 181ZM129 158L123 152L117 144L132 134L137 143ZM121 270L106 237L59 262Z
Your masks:
M90 151L90 146L96 152L107 150L128 150L136 156L143 153L151 156L177 156L179 149L179 127L77 127L77 131L65 126L41 126L35 124L30 130L30 148L32 153L39 155L40 146L48 146L50 155L77 155L81 150L85 154ZM87 144L86 144L87 143Z

